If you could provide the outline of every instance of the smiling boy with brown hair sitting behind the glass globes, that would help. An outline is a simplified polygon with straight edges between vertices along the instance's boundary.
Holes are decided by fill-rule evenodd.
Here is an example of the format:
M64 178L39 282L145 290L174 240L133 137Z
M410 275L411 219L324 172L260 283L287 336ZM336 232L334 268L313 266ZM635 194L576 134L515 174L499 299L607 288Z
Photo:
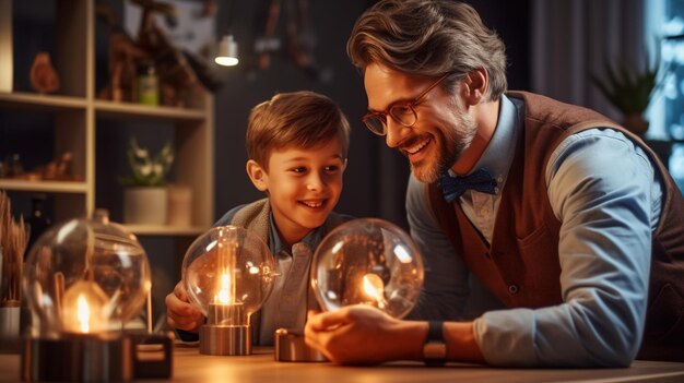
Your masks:
M273 344L279 327L303 334L309 267L318 243L346 220L332 212L342 191L350 124L328 97L312 92L282 93L257 105L246 134L247 175L267 198L227 212L216 226L253 230L273 252L279 276L251 322L258 345ZM184 340L197 339L204 322L189 303L182 282L166 297L167 322Z

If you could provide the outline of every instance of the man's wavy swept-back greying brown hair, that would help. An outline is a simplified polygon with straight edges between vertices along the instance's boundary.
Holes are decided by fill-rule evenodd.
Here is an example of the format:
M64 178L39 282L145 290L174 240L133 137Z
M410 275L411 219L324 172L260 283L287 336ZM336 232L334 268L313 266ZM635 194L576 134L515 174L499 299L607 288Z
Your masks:
M379 1L356 21L346 52L361 70L375 62L410 74L462 79L484 68L488 100L498 99L508 86L504 41L462 2Z

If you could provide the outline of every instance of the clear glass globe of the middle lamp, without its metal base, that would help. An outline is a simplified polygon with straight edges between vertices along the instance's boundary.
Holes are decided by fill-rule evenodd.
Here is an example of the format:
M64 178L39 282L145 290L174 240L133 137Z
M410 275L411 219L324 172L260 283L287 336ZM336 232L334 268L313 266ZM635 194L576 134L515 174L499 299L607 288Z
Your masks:
M271 294L274 275L275 261L268 246L237 226L211 228L192 242L182 261L188 296L205 316L212 306L233 308L234 314L216 324L248 325L249 316Z

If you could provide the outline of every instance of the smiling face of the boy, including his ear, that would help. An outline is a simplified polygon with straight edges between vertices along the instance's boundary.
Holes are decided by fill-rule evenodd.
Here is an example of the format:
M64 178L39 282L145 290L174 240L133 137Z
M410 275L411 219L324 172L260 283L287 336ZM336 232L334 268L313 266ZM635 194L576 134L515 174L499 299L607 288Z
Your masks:
M269 171L255 161L248 172L257 189L267 191L282 239L293 244L321 226L340 200L346 159L339 140L312 148L290 147L271 153Z

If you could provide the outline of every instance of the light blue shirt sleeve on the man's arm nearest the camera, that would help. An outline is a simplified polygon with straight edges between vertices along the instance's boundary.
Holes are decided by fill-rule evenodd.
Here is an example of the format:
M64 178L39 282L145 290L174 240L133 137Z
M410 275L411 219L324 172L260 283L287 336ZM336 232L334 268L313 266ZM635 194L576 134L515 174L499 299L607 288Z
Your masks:
M626 367L646 316L658 180L641 149L612 130L564 141L549 164L562 222L564 303L485 313L475 335L497 366Z

